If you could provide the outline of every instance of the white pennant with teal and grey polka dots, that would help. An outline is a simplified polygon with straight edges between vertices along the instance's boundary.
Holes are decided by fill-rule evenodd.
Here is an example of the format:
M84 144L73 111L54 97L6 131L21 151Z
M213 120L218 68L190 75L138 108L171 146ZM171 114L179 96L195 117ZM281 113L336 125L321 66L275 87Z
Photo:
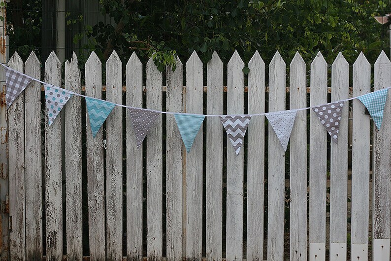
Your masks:
M52 125L57 115L63 109L64 105L72 97L72 93L65 89L53 86L45 85L45 100L46 100L46 112L48 115L49 126Z

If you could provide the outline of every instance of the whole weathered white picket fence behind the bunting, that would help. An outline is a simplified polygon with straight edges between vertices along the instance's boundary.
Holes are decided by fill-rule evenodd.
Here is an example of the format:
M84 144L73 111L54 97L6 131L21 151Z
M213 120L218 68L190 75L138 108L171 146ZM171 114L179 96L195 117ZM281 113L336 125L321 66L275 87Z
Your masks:
M81 76L77 63L76 55L65 62L64 85L65 89L81 93ZM15 53L8 65L27 75L41 78L40 63L33 53L25 63ZM143 104L145 69L133 54L126 64L126 104L161 111L165 92L166 111L202 113L203 94L206 91L207 114L243 114L245 108L248 113L265 112L266 93L269 112L289 109L286 108L287 91L290 95L290 109L307 107L307 92L310 92L311 106L327 103L328 92L331 92L331 101L349 97L351 70L342 54L337 56L331 66L331 88L327 87L327 63L321 53L311 63L310 88L306 87L306 63L298 53L290 64L288 84L287 66L278 52L268 67L268 87L265 86L265 63L258 52L248 63L250 73L246 88L245 75L242 72L244 65L237 52L228 62L227 112L224 113L223 63L216 52L206 65L202 64L195 52L192 54L185 67L186 87L183 86L183 65L179 60L175 72L166 70L165 86L163 74L156 69L153 61L149 60L146 64L146 104ZM204 66L207 72L206 87L203 82ZM92 53L85 64L85 94L101 98L102 92L105 91L106 100L121 104L124 91L122 67L118 55L113 52L106 62L106 82L103 90L102 64L97 55ZM44 64L44 72L42 80L57 86L62 85L62 64L54 52ZM353 64L351 95L370 92L370 75L371 66L361 53ZM382 52L374 65L374 89L388 86L391 86L391 62ZM248 104L245 104L245 91L248 91ZM53 125L45 125L44 141L41 139L39 83L33 82L28 86L24 95L20 95L8 110L9 251L12 261L42 260L44 255L48 261L61 261L63 255L66 255L68 261L82 260L82 160L86 160L88 172L91 261L142 261L143 237L146 237L147 241L148 261L160 261L163 256L163 193L166 195L164 214L167 261L200 261L202 258L210 261L261 261L264 256L268 261L325 261L326 256L330 261L346 261L348 251L352 261L366 261L369 256L368 243L372 244L372 260L390 260L390 99L387 102L382 130L373 131L372 206L369 206L369 178L370 129L373 124L370 117L364 113L363 105L358 100L353 101L351 214L347 210L349 106L344 107L338 144L331 143L328 158L329 221L326 218L327 133L312 111L297 112L289 146L290 164L286 165L286 153L270 125L267 131L268 143L265 146L264 116L252 118L246 134L247 151L243 149L236 156L229 141L224 152L223 137L226 134L216 117L207 118L205 137L202 131L198 133L190 153L186 153L182 145L173 115L166 116L165 139L163 118L160 115L147 135L147 148L135 149L128 116L126 133L122 131L122 108L116 107L107 118L104 136L103 131L99 130L97 137L93 138L88 116L87 129L82 129L81 106L81 98L72 97ZM309 122L307 112L310 114ZM308 140L307 124L310 126ZM86 159L82 159L83 132L87 133ZM62 141L63 136L65 141ZM122 148L125 138L126 173L123 173L125 161ZM205 143L206 159L203 160ZM42 144L45 151L43 160ZM145 165L143 149L146 150ZM267 165L264 156L266 149ZM62 150L65 151L65 158L62 157ZM244 159L247 160L246 175ZM42 161L44 164L41 164ZM206 165L206 173L203 173L203 164ZM147 183L146 216L143 214L143 168L146 169ZM268 172L267 215L264 215L265 168ZM286 168L289 168L290 173L290 252L284 257ZM227 174L225 232L223 171ZM126 205L123 205L125 175L127 200ZM162 186L164 175L166 191L163 191ZM203 175L206 175L204 187ZM247 181L244 177L247 177ZM203 189L206 190L205 242L202 239ZM42 195L45 205L42 204ZM244 202L247 202L246 213ZM373 213L372 222L369 221L370 208ZM65 224L63 212L66 215ZM123 223L123 213L126 215L126 224ZM351 217L350 231L347 227L348 217ZM146 234L143 234L143 219L146 219ZM266 235L263 232L264 223L267 223ZM43 224L46 224L45 229ZM244 224L246 238L243 232ZM123 227L126 231L126 257L123 257L122 252ZM369 229L372 231L371 236L368 234ZM351 234L351 245L348 245L347 233ZM329 242L326 242L326 235ZM46 253L43 252L43 242L46 243ZM206 256L202 255L203 244ZM267 253L264 253L264 247Z

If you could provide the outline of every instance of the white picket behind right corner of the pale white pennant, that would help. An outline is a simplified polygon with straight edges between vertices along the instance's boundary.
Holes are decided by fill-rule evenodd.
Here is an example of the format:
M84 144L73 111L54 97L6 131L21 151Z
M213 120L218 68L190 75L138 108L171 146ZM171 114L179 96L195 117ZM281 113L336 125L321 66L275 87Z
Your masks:
M307 69L296 52L290 65L290 109L307 107ZM307 111L298 111L290 141L290 260L307 261Z

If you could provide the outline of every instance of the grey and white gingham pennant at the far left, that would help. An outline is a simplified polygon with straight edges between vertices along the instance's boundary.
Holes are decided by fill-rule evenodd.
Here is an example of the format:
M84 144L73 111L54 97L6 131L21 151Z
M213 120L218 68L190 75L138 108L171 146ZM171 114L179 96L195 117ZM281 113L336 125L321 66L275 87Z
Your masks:
M33 78L19 73L18 71L12 70L8 67L3 67L5 72L5 82L7 84L7 109L15 101L16 97L19 96L26 89L27 85L33 81Z

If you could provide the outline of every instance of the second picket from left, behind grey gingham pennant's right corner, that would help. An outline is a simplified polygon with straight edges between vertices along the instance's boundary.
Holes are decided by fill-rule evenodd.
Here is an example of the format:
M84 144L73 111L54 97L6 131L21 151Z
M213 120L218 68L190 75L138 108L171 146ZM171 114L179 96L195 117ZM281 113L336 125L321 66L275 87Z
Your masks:
M25 74L41 78L41 66L32 52ZM26 259L42 259L42 140L41 90L33 81L25 89L25 162L26 172Z

